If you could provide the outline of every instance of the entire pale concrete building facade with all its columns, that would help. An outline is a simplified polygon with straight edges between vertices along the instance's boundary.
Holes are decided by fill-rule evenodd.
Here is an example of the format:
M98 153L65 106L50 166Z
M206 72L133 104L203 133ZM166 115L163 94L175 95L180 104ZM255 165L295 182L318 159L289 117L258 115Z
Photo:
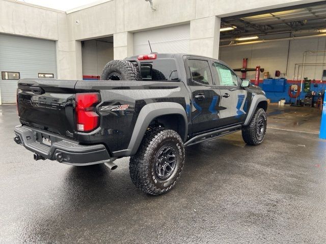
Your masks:
M108 0L66 14L14 0L0 0L0 33L55 40L58 78L80 79L82 40L113 35L114 57L121 58L133 54L132 33L190 23L189 52L216 57L220 17L311 2L248 0L244 4L234 0L230 4L229 0L154 0L156 11L151 11L144 0Z

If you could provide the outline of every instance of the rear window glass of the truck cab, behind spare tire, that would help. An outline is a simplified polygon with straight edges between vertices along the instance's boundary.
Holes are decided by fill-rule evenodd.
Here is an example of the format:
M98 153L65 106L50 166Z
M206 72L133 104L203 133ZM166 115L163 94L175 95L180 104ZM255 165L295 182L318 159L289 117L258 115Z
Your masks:
M174 59L155 59L141 63L143 80L179 80Z

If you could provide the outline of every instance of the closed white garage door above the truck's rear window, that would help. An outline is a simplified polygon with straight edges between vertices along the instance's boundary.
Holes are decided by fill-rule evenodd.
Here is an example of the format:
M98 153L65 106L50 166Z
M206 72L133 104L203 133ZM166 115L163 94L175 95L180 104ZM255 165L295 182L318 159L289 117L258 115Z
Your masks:
M190 25L153 29L151 31L133 34L133 54L150 53L148 40L153 52L159 53L188 53Z

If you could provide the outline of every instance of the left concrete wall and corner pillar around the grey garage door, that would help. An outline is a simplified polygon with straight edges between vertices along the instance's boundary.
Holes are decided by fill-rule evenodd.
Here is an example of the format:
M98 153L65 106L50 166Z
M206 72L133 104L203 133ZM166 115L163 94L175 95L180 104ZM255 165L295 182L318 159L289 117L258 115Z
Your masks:
M14 0L0 0L0 33L56 41L58 78L82 77L81 58L78 61L80 50L74 41L69 42L73 37L68 38L65 12Z

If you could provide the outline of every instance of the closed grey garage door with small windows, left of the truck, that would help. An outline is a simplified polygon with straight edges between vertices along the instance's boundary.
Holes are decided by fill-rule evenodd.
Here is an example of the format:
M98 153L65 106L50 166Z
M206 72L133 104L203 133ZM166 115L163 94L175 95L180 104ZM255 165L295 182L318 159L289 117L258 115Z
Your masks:
M16 78L57 77L56 42L0 34L1 102L16 103Z

